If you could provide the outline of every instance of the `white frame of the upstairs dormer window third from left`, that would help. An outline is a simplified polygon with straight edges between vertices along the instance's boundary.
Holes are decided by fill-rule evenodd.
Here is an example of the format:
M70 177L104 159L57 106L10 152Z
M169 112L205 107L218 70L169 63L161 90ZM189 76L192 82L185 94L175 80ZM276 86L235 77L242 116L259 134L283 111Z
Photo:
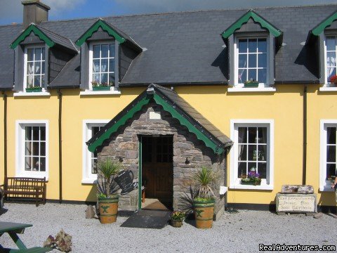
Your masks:
M267 44L267 77L266 77L266 83L259 83L258 88L265 88L270 87L270 41L269 36L267 34L264 35L258 35L258 34L252 34L252 35L237 35L234 38L234 86L237 88L243 88L244 84L239 84L239 77L238 77L238 70L239 70L239 39L266 39Z

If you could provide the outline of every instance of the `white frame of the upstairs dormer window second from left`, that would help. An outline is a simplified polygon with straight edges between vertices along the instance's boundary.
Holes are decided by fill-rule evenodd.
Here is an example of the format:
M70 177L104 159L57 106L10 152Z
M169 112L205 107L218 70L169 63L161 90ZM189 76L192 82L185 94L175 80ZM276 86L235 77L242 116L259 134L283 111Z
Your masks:
M110 87L110 91L114 91L118 88L118 77L117 75L119 74L118 72L118 46L119 44L117 43L117 40L114 41L94 41L89 44L89 90L93 90L93 86L91 82L93 82L93 46L95 45L101 45L101 44L114 44L114 86ZM116 49L117 48L117 49ZM109 92L109 91L105 91Z

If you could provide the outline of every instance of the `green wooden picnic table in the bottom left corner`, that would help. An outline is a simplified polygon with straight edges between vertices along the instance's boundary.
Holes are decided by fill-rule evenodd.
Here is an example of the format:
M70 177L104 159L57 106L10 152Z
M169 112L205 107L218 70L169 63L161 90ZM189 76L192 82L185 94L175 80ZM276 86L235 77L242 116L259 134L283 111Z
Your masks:
M27 249L26 245L20 240L18 234L22 234L25 231L25 228L29 228L33 226L32 224L25 223L13 223L13 222L3 222L0 221L0 236L4 233L8 233L8 235L12 238L15 245L18 246L18 249L10 249L5 248L0 245L0 252L48 252L51 251L51 248L48 247L32 247Z

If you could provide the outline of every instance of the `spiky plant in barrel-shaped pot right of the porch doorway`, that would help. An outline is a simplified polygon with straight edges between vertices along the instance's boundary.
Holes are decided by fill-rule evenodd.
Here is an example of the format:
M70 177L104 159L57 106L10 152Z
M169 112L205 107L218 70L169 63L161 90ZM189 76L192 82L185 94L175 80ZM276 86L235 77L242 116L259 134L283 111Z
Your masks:
M196 184L193 198L196 227L211 228L216 202L211 186L216 181L216 174L211 169L201 167L199 171L195 172L193 179Z

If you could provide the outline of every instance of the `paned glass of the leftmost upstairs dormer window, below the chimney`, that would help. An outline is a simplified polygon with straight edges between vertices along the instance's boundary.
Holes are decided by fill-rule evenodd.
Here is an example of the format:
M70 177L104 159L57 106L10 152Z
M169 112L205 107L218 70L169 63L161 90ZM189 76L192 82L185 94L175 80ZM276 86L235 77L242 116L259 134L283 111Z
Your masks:
M26 87L44 87L44 47L27 48Z

